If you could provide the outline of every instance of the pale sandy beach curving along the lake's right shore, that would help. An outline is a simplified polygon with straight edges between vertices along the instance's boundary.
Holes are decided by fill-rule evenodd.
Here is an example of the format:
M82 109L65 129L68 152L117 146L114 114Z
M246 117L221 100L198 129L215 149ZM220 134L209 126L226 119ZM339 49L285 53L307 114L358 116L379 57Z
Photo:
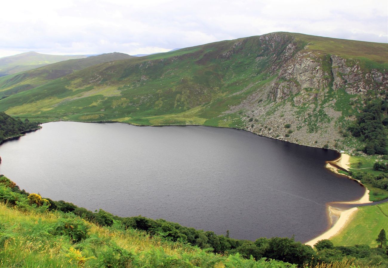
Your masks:
M332 172L334 172L335 174L341 175L343 177L347 177L348 179L351 179L351 180L355 180L355 181L359 182L359 184L364 186L364 184L362 184L359 180L353 179L352 177L350 177L348 175L341 174L338 172L338 170L347 171L349 169L349 158L350 158L350 155L345 154L345 153L341 153L339 158L337 158L333 161L326 161L325 167L327 169L331 170ZM367 189L365 186L364 186L364 188L365 188L365 193L360 199L357 199L355 201L328 203L327 204L328 216L329 216L329 219L330 219L332 226L328 230L326 230L323 234L320 234L317 237L315 237L315 238L311 239L310 241L307 241L303 244L314 247L314 244L317 243L318 241L320 241L322 239L330 239L334 235L338 234L347 225L347 223L349 223L352 220L353 216L356 214L355 212L358 210L357 207L350 208L348 210L340 210L338 208L334 208L330 204L372 203L372 201L369 201L369 189ZM333 224L332 215L338 217L336 222L334 222L334 224Z

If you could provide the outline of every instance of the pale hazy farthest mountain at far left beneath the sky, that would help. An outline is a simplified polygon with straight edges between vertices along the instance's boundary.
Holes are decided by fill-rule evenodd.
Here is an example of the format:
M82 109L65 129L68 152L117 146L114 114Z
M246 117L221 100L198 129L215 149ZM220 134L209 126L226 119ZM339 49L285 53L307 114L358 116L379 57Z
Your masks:
M86 58L86 55L48 55L37 52L25 52L9 57L0 58L0 76L16 74L26 70L42 67L47 64L70 60L74 58Z

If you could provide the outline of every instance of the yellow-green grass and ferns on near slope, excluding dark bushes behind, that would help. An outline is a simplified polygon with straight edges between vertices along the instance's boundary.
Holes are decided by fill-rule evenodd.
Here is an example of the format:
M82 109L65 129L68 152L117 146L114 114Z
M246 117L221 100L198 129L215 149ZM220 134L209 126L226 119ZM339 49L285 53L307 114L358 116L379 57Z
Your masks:
M118 246L131 255L132 261L125 267L286 267L281 261L256 262L239 256L221 256L187 244L150 238L136 230L91 223L90 236L73 244L69 237L48 231L60 216L22 212L0 203L0 266L111 267L104 266L104 261L107 265L109 258L115 258L113 254L120 256L111 252Z

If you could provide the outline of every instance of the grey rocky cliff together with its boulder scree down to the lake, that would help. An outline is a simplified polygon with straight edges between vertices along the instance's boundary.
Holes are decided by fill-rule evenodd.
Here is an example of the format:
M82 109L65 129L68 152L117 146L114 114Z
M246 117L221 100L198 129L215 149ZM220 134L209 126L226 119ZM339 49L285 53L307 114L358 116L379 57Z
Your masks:
M314 147L354 149L357 142L346 133L347 125L355 119L368 91L386 96L388 71L362 68L355 59L296 50L291 40L277 56L281 64L270 68L278 72L275 81L234 111L246 110L246 129L262 136ZM258 105L263 99L268 101Z

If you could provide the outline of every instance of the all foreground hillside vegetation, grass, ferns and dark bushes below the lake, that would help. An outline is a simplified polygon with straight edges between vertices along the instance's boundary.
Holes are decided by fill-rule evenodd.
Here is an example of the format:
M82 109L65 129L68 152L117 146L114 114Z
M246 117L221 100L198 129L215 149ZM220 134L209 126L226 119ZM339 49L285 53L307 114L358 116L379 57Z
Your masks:
M0 177L0 201L1 267L18 264L23 267L340 268L355 264L358 266L354 267L371 267L386 261L385 253L370 249L363 255L340 254L342 258L328 264L333 259L327 254L316 253L310 246L289 238L242 241L165 220L142 216L119 218L103 210L93 213L71 203L28 194L4 176ZM227 244L230 248L222 249ZM374 258L379 258L379 262Z

